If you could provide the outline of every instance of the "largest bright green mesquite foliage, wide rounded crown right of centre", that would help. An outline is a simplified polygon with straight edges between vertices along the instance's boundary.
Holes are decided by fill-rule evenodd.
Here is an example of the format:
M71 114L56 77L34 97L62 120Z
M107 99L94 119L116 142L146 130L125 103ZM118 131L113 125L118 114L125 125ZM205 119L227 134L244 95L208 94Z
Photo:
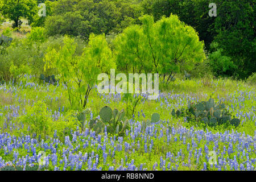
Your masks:
M115 40L117 67L125 72L159 73L171 81L182 69L191 70L205 59L195 30L175 15L154 23L152 16L140 18L142 26L131 26Z

